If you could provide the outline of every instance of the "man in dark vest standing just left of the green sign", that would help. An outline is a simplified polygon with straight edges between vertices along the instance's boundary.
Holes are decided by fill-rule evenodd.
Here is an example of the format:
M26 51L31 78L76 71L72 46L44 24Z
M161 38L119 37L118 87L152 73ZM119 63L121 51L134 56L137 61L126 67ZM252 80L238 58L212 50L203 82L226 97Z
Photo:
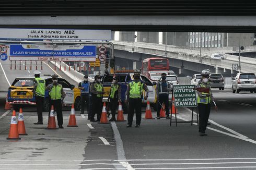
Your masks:
M169 119L170 111L169 111L169 91L171 91L171 84L166 81L166 74L161 74L161 81L159 81L156 85L156 96L158 101L158 109L157 109L157 119L160 119L160 110L162 107L162 103L165 103L165 111L166 118Z

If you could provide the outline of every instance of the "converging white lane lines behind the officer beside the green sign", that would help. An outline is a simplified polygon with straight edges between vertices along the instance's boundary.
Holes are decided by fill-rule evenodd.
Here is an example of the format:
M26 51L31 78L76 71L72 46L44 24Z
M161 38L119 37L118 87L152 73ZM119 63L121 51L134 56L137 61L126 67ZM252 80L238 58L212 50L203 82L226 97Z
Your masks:
M192 113L192 111L189 109L189 108L187 108L187 107L185 107L185 109L186 110L189 110L191 113ZM196 113L195 113L196 114ZM179 116L177 116L177 118L178 118ZM181 118L181 117L179 117L180 119L183 119L183 118ZM188 121L187 119L183 119L184 121ZM213 120L211 120L211 119L209 119L209 122L212 122L213 124L215 123ZM194 125L197 125L196 123L193 123ZM236 134L240 134L240 133L238 133L238 132L236 132L236 131L234 131L234 130L231 130L231 129L229 129L229 128L227 128L227 127L225 127L225 126L222 126L222 125L219 125L219 124L215 124L216 126L219 126L220 128L224 128L225 130L228 130L228 131L232 131L232 132L235 132ZM234 138L238 138L238 139L241 139L241 140L245 140L245 141L248 141L248 142L251 142L251 143L254 143L254 144L256 144L256 141L254 141L254 140L252 140L252 139L250 139L250 138L248 138L248 137L246 137L246 136L243 136L243 135L241 135L240 134L240 136L237 136L237 135L233 135L233 134L231 134L231 133L227 133L227 132L224 132L224 131L221 131L221 130L217 130L217 129L214 129L214 128L211 128L211 127L207 127L207 129L210 129L210 130L213 130L213 131L216 131L216 132L219 132L219 133L223 133L224 135L227 135L227 136L230 136L230 137L234 137ZM241 136L243 136L243 137L241 137Z

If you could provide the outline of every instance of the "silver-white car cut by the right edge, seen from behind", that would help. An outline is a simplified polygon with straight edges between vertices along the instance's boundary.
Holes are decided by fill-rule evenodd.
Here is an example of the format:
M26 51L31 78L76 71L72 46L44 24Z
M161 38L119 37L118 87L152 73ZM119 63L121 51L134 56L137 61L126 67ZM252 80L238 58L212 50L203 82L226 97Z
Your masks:
M252 72L238 73L236 77L232 77L232 92L250 91L256 93L256 77Z

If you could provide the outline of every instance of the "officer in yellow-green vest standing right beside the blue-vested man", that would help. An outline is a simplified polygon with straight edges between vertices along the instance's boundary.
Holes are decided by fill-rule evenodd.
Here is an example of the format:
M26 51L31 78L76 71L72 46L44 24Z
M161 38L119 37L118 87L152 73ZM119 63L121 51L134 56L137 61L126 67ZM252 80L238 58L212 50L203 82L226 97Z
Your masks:
M100 75L94 77L95 81L91 83L91 99L92 99L92 113L90 117L90 122L100 122L101 112L102 112L102 99L104 94L103 85L100 82ZM97 120L94 119L95 114L97 114Z

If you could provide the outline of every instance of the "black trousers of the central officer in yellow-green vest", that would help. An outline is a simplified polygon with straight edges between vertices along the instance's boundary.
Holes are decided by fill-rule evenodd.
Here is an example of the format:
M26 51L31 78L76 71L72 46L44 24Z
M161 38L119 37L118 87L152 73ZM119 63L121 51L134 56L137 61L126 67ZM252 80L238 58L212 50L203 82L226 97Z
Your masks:
M142 99L129 99L129 113L128 113L128 124L132 125L134 108L136 112L136 125L141 125L142 120Z

